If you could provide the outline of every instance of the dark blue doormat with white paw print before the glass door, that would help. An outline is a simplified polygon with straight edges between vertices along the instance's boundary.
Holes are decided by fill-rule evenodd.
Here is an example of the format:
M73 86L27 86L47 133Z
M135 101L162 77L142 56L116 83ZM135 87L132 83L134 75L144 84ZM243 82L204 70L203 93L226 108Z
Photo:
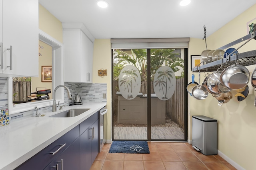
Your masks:
M109 153L149 154L147 141L113 141Z

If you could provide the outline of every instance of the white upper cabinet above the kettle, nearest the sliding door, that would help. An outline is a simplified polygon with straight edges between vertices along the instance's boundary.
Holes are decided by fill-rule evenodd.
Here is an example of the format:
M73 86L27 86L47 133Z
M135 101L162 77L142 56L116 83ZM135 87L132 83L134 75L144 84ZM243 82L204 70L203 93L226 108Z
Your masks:
M92 83L93 42L81 29L63 29L64 82Z

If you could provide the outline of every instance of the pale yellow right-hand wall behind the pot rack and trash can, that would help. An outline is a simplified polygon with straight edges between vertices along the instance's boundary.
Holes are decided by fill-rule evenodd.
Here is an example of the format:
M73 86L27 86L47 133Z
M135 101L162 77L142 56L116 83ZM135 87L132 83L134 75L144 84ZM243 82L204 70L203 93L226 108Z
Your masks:
M247 22L254 18L256 18L256 5L252 6L246 10L246 12L242 13L218 31L207 37L208 49L217 49L247 35ZM235 45L234 48L237 48L240 45L241 43L239 45ZM205 43L202 39L191 39L189 48L190 55L200 55L205 48ZM256 40L252 39L239 49L238 52L242 53L255 49ZM247 68L251 74L255 65L247 66ZM191 76L192 72L189 72L189 74ZM198 73L195 74L198 75ZM188 79L188 82L190 81L191 78ZM188 118L190 121L188 122L188 140L192 140L192 115L206 115L217 119L218 150L239 164L242 168L246 170L254 170L256 167L256 147L254 147L256 141L256 108L254 106L254 98L256 93L254 92L250 82L248 86L250 88L250 92L244 101L238 102L237 97L234 97L236 92L233 90L232 100L222 106L218 106L217 100L211 95L209 95L204 101L198 101L189 96L188 112L190 115Z

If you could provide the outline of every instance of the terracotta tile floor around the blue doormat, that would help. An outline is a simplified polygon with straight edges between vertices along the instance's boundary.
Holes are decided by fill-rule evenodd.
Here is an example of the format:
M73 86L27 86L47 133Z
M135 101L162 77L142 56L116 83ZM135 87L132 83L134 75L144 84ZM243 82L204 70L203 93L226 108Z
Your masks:
M110 145L90 170L236 170L219 155L206 156L188 143L148 142L150 154L108 153Z

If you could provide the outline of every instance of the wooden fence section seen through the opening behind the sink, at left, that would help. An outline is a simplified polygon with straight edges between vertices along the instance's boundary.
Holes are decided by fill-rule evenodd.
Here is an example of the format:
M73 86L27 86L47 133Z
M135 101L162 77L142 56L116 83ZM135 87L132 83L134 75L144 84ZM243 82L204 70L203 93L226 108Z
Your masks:
M31 93L31 82L12 82L12 101L26 101Z

